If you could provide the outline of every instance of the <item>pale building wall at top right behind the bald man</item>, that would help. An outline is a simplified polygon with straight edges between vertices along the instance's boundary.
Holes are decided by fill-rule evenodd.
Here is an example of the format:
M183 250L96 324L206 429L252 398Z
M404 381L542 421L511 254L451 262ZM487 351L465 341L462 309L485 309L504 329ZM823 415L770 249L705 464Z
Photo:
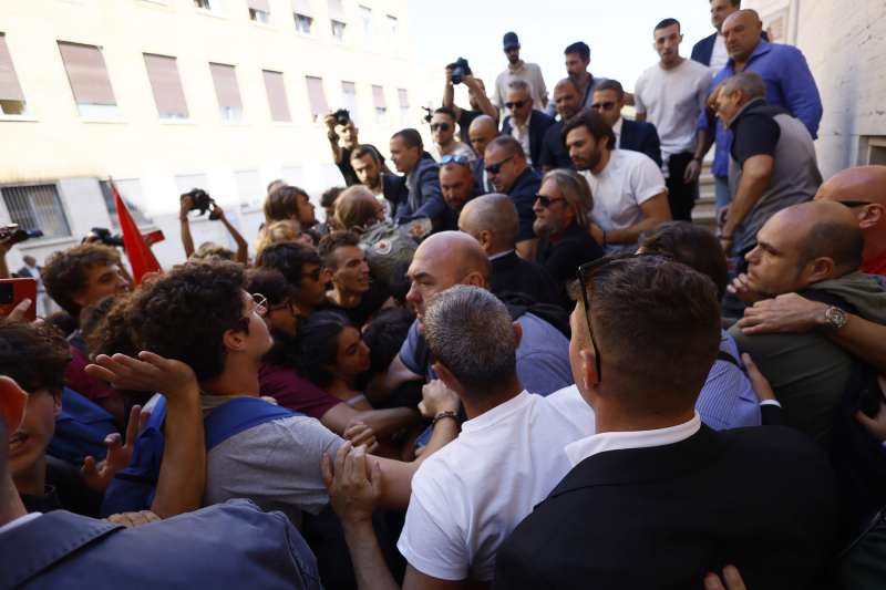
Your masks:
M824 115L815 146L822 175L886 164L886 1L745 0L774 41L800 48Z

